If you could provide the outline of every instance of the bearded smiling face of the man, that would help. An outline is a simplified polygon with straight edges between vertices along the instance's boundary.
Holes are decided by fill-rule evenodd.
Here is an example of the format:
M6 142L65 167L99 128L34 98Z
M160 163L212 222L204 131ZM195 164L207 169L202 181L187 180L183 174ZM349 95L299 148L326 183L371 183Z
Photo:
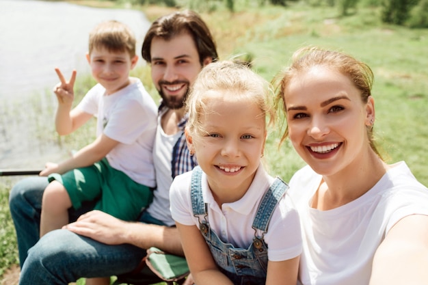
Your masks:
M193 38L188 33L168 41L155 37L150 55L152 80L163 103L170 109L180 109L202 68Z

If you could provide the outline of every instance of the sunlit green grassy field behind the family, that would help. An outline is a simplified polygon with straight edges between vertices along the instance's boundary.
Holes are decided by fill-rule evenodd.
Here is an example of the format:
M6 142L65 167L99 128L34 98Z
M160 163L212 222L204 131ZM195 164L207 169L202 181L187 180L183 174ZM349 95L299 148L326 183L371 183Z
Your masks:
M107 3L103 1L103 5L111 7ZM384 157L390 163L405 160L416 178L428 185L428 29L384 25L380 23L378 8L364 6L347 17L338 16L336 8L309 7L304 2L291 3L286 8L243 7L237 6L234 14L224 8L213 12L200 10L217 40L221 59L250 55L254 70L268 80L289 63L293 51L309 44L345 51L368 63L375 73L375 134ZM173 10L155 6L139 9L150 20ZM140 68L134 75L142 78L157 98L150 70ZM92 83L83 80L78 84L85 90ZM79 148L88 142L83 139L88 137L83 134L88 133L92 133L92 128L77 133L77 139L61 143L68 149ZM55 133L49 136L40 139L51 139ZM271 131L265 158L271 174L289 180L304 163L288 142L278 149L279 136L277 129ZM18 263L8 209L8 191L13 182L0 178L0 276Z

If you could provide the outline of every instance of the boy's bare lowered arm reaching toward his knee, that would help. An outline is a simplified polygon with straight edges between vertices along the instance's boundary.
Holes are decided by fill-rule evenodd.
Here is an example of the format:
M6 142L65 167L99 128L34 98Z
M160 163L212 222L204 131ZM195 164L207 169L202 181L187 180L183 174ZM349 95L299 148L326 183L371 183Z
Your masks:
M46 164L46 168L40 172L40 176L48 176L52 173L64 174L71 169L86 167L96 163L103 159L115 146L119 144L119 141L110 139L107 135L100 135L95 139L92 144L85 146L75 154L71 159L64 161L63 163Z

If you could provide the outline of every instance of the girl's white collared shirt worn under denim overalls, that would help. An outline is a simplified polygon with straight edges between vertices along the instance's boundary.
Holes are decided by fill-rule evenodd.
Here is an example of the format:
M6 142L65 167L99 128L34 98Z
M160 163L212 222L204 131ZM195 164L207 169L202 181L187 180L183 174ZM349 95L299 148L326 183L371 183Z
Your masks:
M178 223L198 226L198 218L193 216L190 198L191 172L174 178L170 189L172 217ZM212 230L225 243L235 247L248 248L254 239L252 223L256 216L258 204L273 183L260 165L252 185L240 200L225 203L220 208L213 198L206 175L202 174L202 197L208 204L208 221ZM257 232L260 236L260 232ZM289 260L302 252L299 217L293 202L286 193L280 199L269 222L265 242L268 246L268 259L271 261Z

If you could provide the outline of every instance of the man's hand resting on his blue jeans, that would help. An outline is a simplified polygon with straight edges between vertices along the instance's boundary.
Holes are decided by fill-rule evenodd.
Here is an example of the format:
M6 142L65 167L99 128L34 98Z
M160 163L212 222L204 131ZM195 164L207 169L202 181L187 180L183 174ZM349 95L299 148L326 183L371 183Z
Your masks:
M107 245L120 245L128 242L124 238L128 226L126 221L94 210L81 215L77 221L63 228Z

